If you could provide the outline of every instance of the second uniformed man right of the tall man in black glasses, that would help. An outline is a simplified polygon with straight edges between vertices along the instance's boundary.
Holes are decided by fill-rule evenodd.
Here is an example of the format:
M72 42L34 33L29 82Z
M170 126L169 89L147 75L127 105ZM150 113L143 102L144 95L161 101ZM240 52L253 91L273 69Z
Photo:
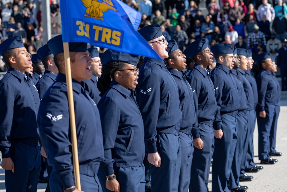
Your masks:
M193 136L193 161L189 190L208 191L208 177L214 151L213 121L216 113L214 86L207 66L213 62L213 56L205 39L198 39L187 46L184 53L193 58L195 65L187 75L193 90L195 105L195 129Z

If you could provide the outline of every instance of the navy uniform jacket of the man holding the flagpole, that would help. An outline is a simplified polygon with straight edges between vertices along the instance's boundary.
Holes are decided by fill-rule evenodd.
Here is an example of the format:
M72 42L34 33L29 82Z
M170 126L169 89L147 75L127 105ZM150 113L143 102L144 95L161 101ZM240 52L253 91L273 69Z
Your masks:
M72 79L75 123L80 173L94 176L104 159L100 114L95 102L81 83ZM56 81L44 94L38 113L41 143L48 164L64 189L74 185L69 105L66 76L58 73ZM96 173L94 173L96 171Z

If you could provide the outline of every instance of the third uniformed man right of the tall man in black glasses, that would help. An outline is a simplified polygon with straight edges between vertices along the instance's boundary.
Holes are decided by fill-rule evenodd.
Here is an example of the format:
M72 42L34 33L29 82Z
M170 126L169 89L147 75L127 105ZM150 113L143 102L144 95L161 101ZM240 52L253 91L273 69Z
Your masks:
M235 62L233 50L234 46L226 43L212 47L212 53L217 61L216 68L211 72L217 101L213 123L213 128L216 130L212 162L213 191L230 191L227 184L237 142L236 115L240 109L240 97L235 80L230 73ZM217 134L221 134L221 139L217 138Z

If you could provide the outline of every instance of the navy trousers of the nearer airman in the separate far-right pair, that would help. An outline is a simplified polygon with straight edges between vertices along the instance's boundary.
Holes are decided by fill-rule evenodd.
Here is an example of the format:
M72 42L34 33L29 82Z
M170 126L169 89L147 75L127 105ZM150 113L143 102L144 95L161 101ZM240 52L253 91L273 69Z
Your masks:
M265 104L266 117L259 117L259 110L256 110L258 125L258 157L265 160L270 157L270 131L275 114L275 104Z

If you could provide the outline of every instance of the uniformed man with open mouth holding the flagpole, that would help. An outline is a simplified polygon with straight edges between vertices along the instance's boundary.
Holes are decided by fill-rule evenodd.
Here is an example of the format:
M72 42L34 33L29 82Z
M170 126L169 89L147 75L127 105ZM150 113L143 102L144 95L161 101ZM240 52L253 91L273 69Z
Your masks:
M53 167L50 189L62 192L75 189L62 35L50 39L47 44L59 73L41 100L37 120L48 164ZM87 43L69 43L69 50L74 57L71 74L81 187L83 191L102 191L97 176L104 159L100 114L96 103L81 86L81 81L91 78L92 59Z

